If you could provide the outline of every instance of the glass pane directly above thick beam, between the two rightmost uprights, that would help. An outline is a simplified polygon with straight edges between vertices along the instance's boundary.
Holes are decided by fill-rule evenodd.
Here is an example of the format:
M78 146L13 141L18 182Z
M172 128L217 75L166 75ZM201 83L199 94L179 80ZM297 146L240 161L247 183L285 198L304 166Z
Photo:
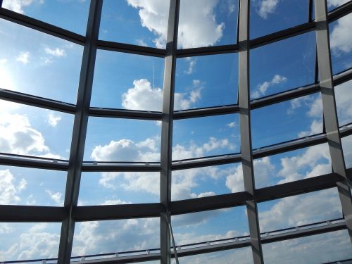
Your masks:
M332 172L327 144L309 146L253 161L256 188L294 182Z

